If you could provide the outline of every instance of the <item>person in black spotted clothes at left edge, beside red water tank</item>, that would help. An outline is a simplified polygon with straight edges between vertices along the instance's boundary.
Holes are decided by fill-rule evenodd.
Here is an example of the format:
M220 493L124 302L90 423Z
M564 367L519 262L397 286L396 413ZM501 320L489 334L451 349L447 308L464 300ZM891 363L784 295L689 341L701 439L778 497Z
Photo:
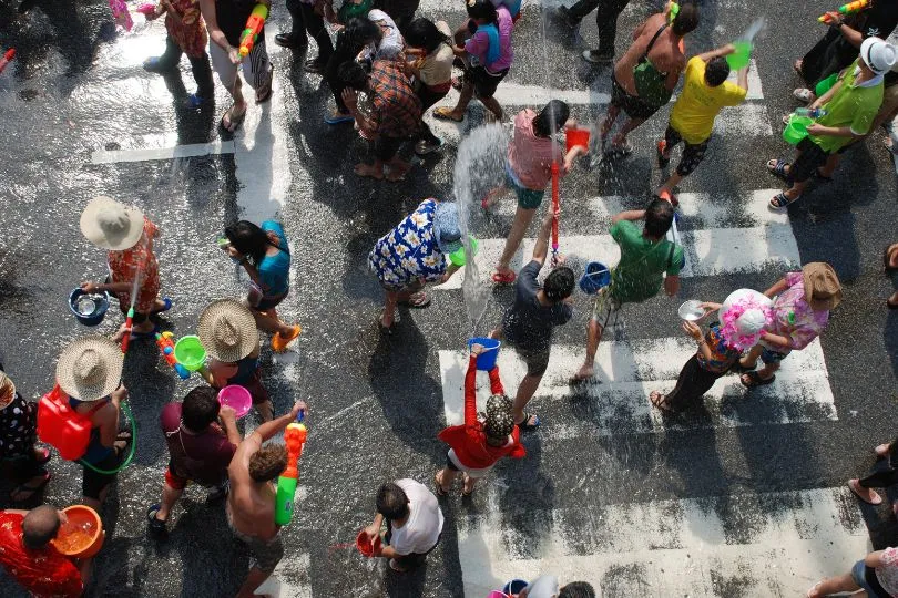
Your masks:
M14 476L24 481L10 494L13 503L28 501L50 482L43 467L50 451L35 446L37 434L37 403L16 392L16 384L0 364L0 458L11 462Z

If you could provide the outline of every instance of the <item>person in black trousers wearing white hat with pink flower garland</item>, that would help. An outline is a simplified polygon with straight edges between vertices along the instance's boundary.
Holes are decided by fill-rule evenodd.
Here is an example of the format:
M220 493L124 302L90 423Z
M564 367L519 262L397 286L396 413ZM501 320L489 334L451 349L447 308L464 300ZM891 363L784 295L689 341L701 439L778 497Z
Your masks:
M707 302L702 308L706 312L720 310L721 322L712 324L704 337L695 322L683 322L683 330L698 342L698 351L683 365L670 394L652 391L649 395L661 411L683 411L701 401L773 323L773 301L751 289L733 291L723 306Z

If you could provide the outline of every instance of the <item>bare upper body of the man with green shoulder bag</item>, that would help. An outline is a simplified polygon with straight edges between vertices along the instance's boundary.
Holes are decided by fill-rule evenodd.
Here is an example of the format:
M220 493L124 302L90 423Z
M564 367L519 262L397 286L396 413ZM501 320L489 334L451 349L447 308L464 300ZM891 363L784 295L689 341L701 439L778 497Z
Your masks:
M649 17L649 19L636 28L636 31L633 33L633 43L614 65L614 78L630 95L637 95L636 84L633 81L633 68L645 53L645 49L649 48L652 38L654 38L659 29L664 27L666 21L667 17L665 13ZM667 73L666 86L669 90L673 90L673 87L676 86L680 73L686 66L686 56L680 48L682 40L683 38L676 35L669 27L661 32L661 35L657 37L654 45L652 45L652 49L649 51L649 60L655 69L657 69L659 72Z

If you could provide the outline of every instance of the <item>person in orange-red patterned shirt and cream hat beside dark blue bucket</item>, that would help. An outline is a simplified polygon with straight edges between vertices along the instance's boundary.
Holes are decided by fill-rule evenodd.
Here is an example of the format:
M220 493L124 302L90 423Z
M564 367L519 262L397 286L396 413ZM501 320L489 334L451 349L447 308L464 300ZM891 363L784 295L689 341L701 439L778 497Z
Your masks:
M153 254L153 239L159 237L156 225L140 209L100 195L91 199L81 213L81 233L96 247L109 250L106 260L110 272L108 282L98 285L85 281L81 283L81 290L114 293L119 308L126 315L135 279L137 282L133 327L129 330L123 323L112 340L119 342L129 332L132 339L153 338L155 326L150 317L172 307L172 300L167 297L157 299L159 262Z

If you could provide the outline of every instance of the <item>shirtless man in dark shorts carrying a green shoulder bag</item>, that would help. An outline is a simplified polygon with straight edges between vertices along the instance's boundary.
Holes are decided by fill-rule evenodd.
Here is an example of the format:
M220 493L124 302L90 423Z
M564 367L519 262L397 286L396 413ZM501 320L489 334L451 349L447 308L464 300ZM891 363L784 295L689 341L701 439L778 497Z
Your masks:
M680 12L669 21L670 4L664 12L649 17L633 32L633 44L614 65L611 74L611 105L602 123L602 148L606 153L626 156L633 148L626 143L626 135L640 126L652 114L667 103L673 89L680 80L680 73L686 66L683 55L683 37L698 25L698 8L684 3ZM654 43L653 43L654 40ZM650 48L651 47L651 48ZM649 74L644 75L642 93L636 90L633 69L647 54ZM649 92L649 93L646 93ZM605 142L614 121L623 110L627 121L612 140L611 146Z

